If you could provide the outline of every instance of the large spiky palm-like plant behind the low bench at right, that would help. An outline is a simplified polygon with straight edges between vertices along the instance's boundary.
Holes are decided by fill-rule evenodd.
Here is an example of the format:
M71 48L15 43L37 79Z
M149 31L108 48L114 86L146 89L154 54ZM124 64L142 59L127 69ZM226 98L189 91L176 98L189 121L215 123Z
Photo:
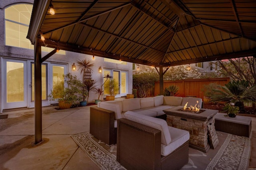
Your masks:
M256 96L256 85L249 87L247 80L233 80L220 86L220 89L213 89L211 98L213 102L228 102L238 106L240 111L244 111L244 102L254 102Z

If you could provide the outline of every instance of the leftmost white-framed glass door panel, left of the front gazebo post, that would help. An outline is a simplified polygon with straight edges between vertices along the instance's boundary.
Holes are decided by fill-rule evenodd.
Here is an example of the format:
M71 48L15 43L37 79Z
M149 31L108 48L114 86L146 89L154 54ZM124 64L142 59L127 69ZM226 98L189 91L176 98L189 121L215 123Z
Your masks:
M28 107L27 61L3 59L2 109Z

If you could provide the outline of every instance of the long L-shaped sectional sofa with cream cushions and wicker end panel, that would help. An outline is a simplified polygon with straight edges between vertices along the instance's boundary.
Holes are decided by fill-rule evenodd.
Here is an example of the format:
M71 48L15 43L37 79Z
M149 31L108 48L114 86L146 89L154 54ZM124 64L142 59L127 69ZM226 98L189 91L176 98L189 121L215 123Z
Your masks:
M90 107L90 133L107 145L113 145L116 143L117 120L124 118L126 111L166 120L163 110L184 106L187 102L188 106L194 106L197 101L201 108L201 98L177 96L155 96L99 102L97 107Z

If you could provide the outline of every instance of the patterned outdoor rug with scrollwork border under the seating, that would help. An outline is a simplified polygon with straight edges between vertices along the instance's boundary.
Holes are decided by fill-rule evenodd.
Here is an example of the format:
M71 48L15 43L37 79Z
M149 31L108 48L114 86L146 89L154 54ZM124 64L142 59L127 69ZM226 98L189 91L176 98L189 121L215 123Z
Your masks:
M182 170L246 170L248 169L250 138L216 131L219 144L207 153L189 148L189 162ZM89 132L73 135L72 139L102 170L125 170L116 161L116 145L108 147ZM143 153L142 153L143 154Z

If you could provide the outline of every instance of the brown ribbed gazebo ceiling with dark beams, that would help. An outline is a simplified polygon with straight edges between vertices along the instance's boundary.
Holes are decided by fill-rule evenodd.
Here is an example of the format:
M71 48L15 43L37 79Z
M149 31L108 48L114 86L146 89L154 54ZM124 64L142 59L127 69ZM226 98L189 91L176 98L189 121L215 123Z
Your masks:
M40 33L42 46L156 67L252 56L256 2L35 0L32 44Z

